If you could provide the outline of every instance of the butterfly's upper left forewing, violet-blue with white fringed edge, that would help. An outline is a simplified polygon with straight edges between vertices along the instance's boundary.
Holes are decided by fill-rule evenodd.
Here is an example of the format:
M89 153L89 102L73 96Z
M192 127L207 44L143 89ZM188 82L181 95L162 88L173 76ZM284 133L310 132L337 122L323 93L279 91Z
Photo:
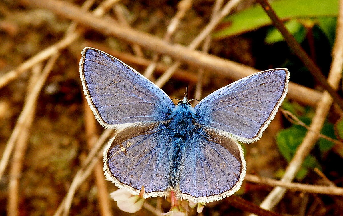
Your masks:
M107 128L164 121L174 107L161 88L120 60L94 48L82 50L80 77L88 104Z

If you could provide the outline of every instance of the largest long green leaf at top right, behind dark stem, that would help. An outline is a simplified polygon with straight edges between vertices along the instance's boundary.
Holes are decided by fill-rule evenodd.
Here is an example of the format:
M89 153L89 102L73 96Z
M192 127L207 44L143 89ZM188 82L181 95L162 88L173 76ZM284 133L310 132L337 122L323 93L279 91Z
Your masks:
M282 21L338 15L338 0L279 0L271 2L271 6ZM221 28L214 32L213 37L218 39L239 35L270 24L270 18L257 4L255 7L228 16L221 24Z

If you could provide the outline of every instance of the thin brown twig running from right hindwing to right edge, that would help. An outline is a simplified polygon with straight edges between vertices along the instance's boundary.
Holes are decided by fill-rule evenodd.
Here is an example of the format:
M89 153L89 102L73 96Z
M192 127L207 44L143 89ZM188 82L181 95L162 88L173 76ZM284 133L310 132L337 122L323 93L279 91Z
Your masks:
M249 174L245 176L244 180L249 181L249 182L255 182L258 184L265 184L272 187L280 186L287 190L293 190L293 191L343 196L343 188L336 187L335 185L323 186L323 185L310 185L310 184L293 183L293 182L282 182L275 179L249 175Z

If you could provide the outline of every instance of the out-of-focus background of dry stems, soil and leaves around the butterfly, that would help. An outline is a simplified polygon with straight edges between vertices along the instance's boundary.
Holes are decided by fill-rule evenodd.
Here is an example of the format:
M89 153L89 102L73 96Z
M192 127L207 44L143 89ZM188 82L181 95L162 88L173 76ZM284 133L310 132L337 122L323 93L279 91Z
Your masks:
M270 2L342 95L339 1ZM235 195L247 205L230 197L188 214L248 215L267 196L275 201L264 201L270 214L343 214L342 110L255 0L1 0L0 215L130 215L110 199L117 188L103 175L110 132L85 105L78 65L85 46L119 58L171 98L188 85L190 98L202 99L254 72L288 68L282 110L260 141L243 146L248 175ZM274 189L279 197L270 194L277 185L286 188ZM150 198L134 214L169 208Z

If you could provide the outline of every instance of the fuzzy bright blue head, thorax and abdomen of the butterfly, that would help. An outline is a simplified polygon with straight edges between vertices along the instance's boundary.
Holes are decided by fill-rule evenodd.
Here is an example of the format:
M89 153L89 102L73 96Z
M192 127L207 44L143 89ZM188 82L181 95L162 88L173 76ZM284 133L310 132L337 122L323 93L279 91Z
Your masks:
M190 103L179 103L170 114L168 130L171 135L169 188L178 188L182 158L186 148L186 139L196 130L196 111Z

